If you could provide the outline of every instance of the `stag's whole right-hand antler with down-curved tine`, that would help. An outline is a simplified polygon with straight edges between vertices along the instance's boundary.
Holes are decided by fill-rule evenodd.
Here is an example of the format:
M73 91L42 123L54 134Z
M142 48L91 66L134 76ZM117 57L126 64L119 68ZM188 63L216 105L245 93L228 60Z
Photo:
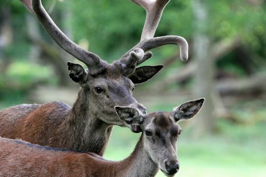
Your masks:
M139 64L142 64L147 59L152 56L151 52L148 50L153 48L158 48L167 44L175 44L179 46L180 50L180 58L182 61L187 61L188 59L188 43L187 41L180 36L161 36L155 37L154 34L160 22L160 17L162 15L163 9L167 5L170 0L131 0L132 2L142 6L146 10L146 20L144 23L144 27L142 30L141 41L129 51L127 51L117 63L121 65L122 63L126 62L130 58L130 52L134 51L136 48L141 48L145 55L141 60L139 60L135 67ZM132 65L127 65L128 67L132 67ZM123 67L125 69L125 67Z

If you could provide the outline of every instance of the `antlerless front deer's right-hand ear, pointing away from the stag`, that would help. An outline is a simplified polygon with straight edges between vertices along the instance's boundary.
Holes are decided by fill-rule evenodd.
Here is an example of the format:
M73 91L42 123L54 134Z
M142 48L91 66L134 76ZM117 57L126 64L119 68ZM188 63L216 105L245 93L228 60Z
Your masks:
M173 112L175 120L178 122L180 120L187 120L194 117L201 109L204 101L205 98L200 98L181 104L175 108Z

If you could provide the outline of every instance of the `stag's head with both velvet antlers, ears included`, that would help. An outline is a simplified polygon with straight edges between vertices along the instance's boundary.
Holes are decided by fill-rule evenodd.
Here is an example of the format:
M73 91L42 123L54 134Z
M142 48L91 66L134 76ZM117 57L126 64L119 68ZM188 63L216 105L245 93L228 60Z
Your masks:
M70 77L79 83L86 92L92 110L97 111L99 118L109 124L121 125L114 106L130 106L146 112L145 107L138 103L132 92L134 84L140 84L157 74L162 65L142 66L152 57L149 51L166 44L176 44L180 48L181 60L188 58L188 44L180 36L162 36L154 38L160 16L169 0L131 0L146 9L147 16L142 31L141 41L119 60L107 64L98 55L89 52L71 41L53 22L41 4L41 0L21 0L27 9L35 15L53 40L64 50L87 65L84 69L79 64L68 63ZM120 122L119 122L120 121ZM124 122L123 122L124 124ZM139 131L137 126L131 130Z

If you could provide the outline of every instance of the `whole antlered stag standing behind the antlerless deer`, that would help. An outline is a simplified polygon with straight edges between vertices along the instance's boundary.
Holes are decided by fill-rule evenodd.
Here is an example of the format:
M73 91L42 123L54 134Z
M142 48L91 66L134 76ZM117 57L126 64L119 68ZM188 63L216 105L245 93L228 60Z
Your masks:
M179 45L181 59L186 60L188 45L179 36L153 38L162 10L169 0L132 1L147 10L142 39L121 59L107 64L98 55L71 41L55 25L41 0L21 0L53 40L86 64L88 69L68 63L70 78L81 86L72 108L62 102L51 102L43 105L22 104L3 110L0 112L0 136L38 145L94 152L102 156L113 125L127 126L133 132L140 132L139 126L124 124L114 106L135 107L145 113L145 107L132 97L134 84L151 79L162 65L138 68L137 65L152 57L150 49L166 44Z

